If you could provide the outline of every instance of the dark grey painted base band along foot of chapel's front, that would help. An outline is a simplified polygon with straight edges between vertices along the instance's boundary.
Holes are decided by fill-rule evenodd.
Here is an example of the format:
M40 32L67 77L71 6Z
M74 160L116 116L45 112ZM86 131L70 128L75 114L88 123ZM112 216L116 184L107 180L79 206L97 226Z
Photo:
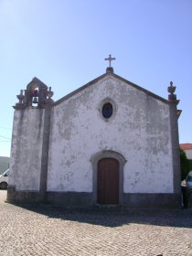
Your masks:
M181 194L123 194L123 208L181 208ZM8 187L7 201L11 203L49 203L61 207L100 207L88 192L47 192L42 200L38 191L17 191Z

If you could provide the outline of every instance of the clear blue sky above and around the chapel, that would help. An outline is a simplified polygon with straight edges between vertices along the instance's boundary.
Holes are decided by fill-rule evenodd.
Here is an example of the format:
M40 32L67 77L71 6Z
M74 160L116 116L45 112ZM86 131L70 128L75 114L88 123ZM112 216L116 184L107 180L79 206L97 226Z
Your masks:
M0 155L9 156L16 94L34 77L53 99L105 72L163 98L176 85L180 143L192 143L192 0L0 0Z

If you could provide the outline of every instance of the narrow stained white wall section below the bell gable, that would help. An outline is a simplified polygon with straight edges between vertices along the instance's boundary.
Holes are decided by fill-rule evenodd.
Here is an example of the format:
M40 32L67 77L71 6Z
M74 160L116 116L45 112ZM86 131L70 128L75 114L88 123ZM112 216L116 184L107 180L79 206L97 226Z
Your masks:
M44 110L15 111L9 185L39 190Z

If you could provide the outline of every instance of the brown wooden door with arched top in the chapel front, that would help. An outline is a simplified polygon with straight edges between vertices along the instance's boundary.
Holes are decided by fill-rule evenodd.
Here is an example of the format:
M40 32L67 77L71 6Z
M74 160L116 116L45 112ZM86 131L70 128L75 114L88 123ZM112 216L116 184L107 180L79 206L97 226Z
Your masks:
M98 203L119 204L119 162L103 158L98 163Z

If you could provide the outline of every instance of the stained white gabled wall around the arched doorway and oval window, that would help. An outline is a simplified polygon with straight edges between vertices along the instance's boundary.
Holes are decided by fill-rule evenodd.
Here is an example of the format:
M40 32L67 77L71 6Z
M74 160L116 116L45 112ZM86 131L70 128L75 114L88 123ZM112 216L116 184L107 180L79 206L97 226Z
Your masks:
M111 98L116 112L105 122L101 101ZM169 107L107 76L62 101L52 111L48 191L92 191L91 156L112 150L127 160L125 193L172 193Z

